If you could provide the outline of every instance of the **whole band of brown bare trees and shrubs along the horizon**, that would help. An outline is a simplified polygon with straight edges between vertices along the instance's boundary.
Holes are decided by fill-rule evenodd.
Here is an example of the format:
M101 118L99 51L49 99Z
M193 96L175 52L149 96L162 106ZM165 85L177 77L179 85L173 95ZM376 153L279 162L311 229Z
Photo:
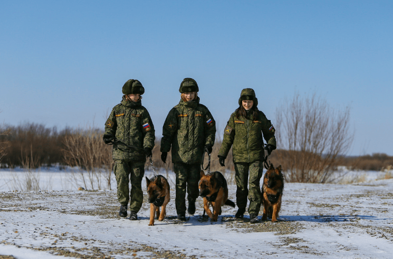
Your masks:
M333 109L315 93L301 96L295 92L292 99L283 99L275 118L278 149L272 152L269 161L276 167L281 165L288 182L330 182L339 166L382 171L393 165L393 157L386 154L346 156L354 139L354 132L349 126L350 109ZM58 131L56 127L47 128L35 123L0 125L0 167L35 169L58 164L87 171L91 173L90 180L97 175L96 171L105 171L110 177L112 146L104 144L103 134L103 129L94 127L66 127ZM225 168L219 165L217 155L222 138L223 133L218 131L210 170L234 172L232 152L225 160ZM172 171L170 152L167 163L160 159L159 139L152 154L156 169L167 173ZM145 168L149 167L148 160ZM233 178L234 175L225 177Z

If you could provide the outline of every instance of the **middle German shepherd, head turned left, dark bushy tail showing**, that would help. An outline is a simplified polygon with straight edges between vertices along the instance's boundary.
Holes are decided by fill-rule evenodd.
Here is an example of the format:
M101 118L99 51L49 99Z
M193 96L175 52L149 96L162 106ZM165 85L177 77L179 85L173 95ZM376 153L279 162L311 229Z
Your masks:
M203 198L203 217L206 212L210 221L217 221L218 215L221 215L221 206L235 207L235 202L228 200L228 185L225 177L217 171L209 175L200 171L199 196ZM209 206L213 208L213 213Z

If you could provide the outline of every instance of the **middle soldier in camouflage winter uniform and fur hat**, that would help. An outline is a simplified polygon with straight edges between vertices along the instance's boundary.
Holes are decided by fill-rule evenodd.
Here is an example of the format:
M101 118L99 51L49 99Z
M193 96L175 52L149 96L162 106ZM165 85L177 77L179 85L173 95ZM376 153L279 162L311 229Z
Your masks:
M200 163L203 151L209 153L216 135L216 122L206 106L199 103L199 88L192 78L180 84L181 100L173 107L163 126L161 159L165 163L172 147L173 171L176 174L176 212L179 220L186 220L186 189L188 213L195 213L199 196Z

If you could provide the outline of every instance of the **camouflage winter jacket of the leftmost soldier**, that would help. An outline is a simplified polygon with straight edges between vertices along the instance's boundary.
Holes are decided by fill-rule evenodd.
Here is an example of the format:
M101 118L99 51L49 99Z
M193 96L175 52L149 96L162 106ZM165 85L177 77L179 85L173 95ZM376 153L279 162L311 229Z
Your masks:
M112 134L117 142L114 143L113 159L135 162L145 162L144 147L154 147L154 126L150 115L139 102L127 101L124 96L120 104L113 107L107 122L105 134Z

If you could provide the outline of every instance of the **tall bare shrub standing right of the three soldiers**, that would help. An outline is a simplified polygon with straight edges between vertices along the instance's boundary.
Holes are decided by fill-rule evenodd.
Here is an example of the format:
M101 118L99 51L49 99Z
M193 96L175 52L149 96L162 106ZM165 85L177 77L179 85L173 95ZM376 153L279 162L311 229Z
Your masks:
M337 161L345 155L354 138L350 131L350 109L331 108L316 94L292 100L276 110L278 160L287 171L288 182L326 183L333 181Z

